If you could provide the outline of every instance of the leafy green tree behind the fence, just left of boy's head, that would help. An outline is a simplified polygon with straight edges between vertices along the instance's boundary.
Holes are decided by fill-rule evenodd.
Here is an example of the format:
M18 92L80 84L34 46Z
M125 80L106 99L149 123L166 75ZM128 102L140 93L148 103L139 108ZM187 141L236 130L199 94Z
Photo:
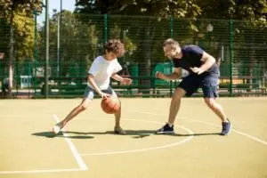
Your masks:
M61 13L61 23L58 24ZM98 55L100 39L95 23L82 23L79 14L69 11L57 12L50 20L50 66L52 77L57 77L57 37L60 25L60 77L85 77L86 70ZM39 31L44 39L45 27ZM44 44L40 44L44 45ZM44 50L41 50L39 62L44 61Z

